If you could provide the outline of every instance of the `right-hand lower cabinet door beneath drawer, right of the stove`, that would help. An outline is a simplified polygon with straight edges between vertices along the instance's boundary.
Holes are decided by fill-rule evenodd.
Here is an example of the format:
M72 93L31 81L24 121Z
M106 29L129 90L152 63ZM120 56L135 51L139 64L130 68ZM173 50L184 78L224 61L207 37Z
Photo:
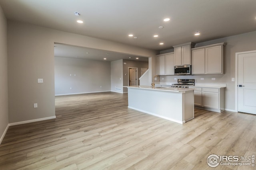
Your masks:
M203 94L203 106L214 109L219 109L219 93L216 92L202 92Z

